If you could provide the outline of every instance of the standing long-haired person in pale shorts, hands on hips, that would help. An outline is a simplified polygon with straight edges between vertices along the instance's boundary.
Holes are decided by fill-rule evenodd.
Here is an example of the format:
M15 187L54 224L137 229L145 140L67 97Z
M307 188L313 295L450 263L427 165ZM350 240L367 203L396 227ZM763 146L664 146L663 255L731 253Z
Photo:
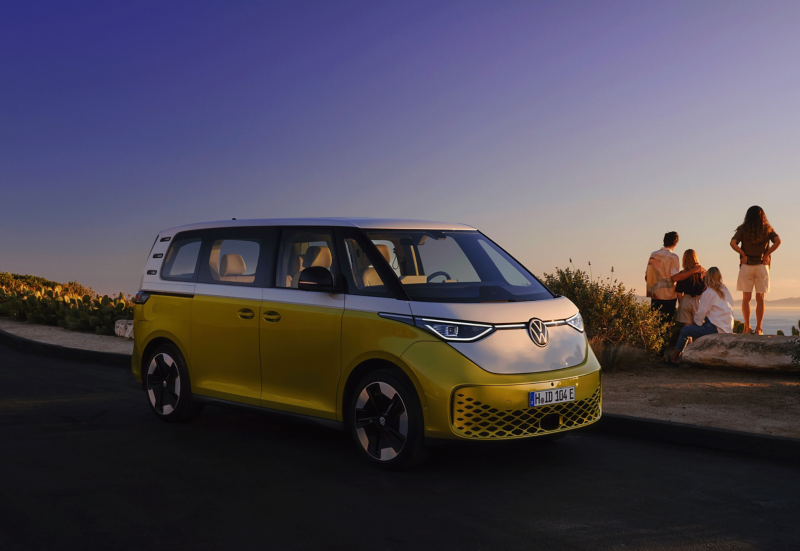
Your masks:
M772 246L770 246L772 243ZM756 334L763 335L764 293L769 292L769 265L772 253L781 244L781 238L772 229L764 209L753 206L747 209L744 223L736 228L731 248L739 253L739 279L736 290L742 291L744 332L750 332L750 299L756 290Z

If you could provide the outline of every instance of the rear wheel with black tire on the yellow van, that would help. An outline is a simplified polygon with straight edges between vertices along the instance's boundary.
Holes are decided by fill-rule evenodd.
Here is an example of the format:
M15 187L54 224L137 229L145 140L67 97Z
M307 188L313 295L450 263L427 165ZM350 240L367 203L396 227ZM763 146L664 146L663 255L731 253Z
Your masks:
M161 345L150 354L142 377L150 409L162 421L190 421L203 411L203 404L193 399L186 360L174 344Z

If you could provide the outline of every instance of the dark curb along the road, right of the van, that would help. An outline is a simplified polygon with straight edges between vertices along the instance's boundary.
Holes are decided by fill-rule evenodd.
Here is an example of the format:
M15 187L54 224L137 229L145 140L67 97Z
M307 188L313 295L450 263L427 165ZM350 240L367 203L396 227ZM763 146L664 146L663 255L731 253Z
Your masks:
M800 461L800 439L604 413L594 430L682 446Z

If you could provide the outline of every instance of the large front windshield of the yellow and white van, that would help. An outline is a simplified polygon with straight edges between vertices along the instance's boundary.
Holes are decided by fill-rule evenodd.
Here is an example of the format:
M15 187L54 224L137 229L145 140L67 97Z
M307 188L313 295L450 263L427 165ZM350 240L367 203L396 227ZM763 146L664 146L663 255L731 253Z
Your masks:
M366 231L412 300L517 302L553 298L519 262L477 231Z

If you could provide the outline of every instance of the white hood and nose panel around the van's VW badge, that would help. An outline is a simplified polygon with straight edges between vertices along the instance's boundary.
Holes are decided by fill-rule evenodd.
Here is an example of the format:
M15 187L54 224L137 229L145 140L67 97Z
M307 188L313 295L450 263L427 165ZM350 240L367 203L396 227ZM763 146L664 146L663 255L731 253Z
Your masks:
M426 318L491 324L525 323L525 327L497 329L476 342L448 342L490 373L510 375L566 369L583 363L588 352L586 334L569 325L549 326L549 341L545 346L534 344L528 332L527 322L533 318L565 320L578 313L578 308L565 297L530 302L411 302L410 305L415 316Z

